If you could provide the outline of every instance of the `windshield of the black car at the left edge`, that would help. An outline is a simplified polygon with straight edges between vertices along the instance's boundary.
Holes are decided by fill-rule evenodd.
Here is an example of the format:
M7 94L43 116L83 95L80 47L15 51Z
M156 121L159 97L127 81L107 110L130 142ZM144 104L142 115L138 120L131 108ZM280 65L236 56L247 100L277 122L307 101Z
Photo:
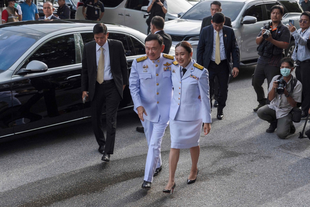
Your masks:
M0 30L0 73L9 69L39 37Z

